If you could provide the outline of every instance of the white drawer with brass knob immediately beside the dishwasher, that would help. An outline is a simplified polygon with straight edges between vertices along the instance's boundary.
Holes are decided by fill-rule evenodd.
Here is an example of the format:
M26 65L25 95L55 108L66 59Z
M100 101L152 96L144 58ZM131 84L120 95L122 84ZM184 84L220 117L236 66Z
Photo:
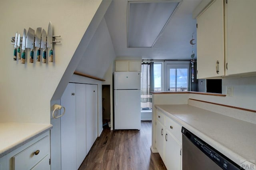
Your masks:
M166 126L166 130L171 132L172 135L181 143L182 141L181 126L168 117L166 117L165 126Z

